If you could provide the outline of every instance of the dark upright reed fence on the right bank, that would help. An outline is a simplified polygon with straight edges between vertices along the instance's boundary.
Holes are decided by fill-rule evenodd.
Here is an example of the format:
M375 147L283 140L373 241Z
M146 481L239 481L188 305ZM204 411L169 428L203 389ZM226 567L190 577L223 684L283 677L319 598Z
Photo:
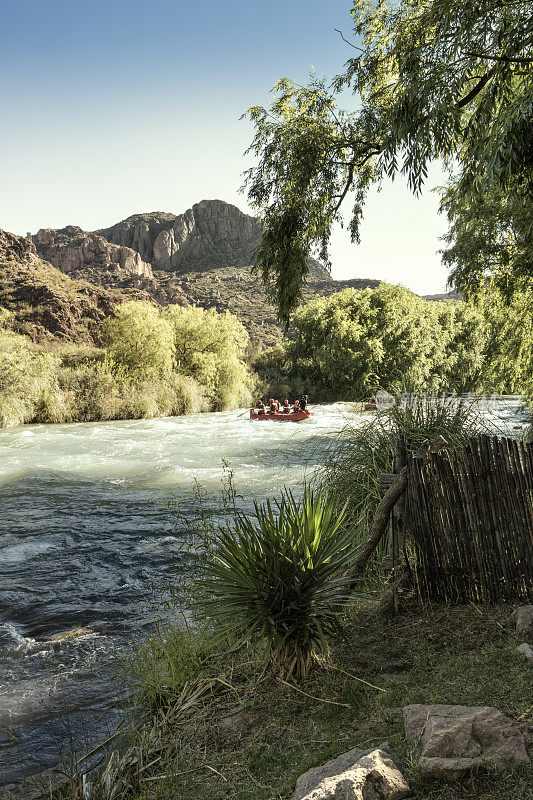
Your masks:
M480 436L408 467L406 555L419 595L500 602L533 594L533 444Z

